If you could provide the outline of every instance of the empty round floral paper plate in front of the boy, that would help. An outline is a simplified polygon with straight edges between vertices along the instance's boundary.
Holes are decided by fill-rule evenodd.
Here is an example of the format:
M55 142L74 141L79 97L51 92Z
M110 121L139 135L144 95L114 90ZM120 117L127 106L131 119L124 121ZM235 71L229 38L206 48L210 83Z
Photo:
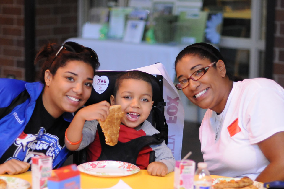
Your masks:
M120 161L95 161L77 166L78 170L98 177L122 177L139 172L134 164Z

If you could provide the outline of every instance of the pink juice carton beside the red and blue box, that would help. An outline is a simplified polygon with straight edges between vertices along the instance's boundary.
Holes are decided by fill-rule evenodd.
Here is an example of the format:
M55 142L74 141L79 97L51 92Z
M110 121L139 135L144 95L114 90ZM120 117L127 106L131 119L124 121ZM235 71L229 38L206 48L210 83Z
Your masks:
M32 157L33 189L47 188L47 179L51 176L52 158L50 156Z

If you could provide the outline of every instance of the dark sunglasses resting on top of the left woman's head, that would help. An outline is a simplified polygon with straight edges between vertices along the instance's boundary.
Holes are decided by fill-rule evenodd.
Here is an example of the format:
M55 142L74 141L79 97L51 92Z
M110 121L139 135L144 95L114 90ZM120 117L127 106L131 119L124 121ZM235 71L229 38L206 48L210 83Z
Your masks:
M87 49L91 54L91 60L95 61L95 62L99 61L97 53L94 50L92 50L91 48L84 47L83 45L80 45L80 44L73 42L73 41L67 41L65 43L62 43L61 47L59 48L59 50L55 54L55 56L54 56L54 58L51 62L51 65L52 65L53 61L55 60L56 56L61 52L62 49L67 50L69 52L74 52L74 53L81 53L81 52L83 52L84 49Z

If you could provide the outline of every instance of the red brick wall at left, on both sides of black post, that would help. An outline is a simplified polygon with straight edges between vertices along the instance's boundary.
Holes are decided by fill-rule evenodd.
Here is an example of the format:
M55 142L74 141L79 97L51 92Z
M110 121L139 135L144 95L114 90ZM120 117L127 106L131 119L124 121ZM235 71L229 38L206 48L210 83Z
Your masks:
M0 78L25 80L24 2L0 2ZM35 7L36 52L46 43L77 36L77 0L35 0Z

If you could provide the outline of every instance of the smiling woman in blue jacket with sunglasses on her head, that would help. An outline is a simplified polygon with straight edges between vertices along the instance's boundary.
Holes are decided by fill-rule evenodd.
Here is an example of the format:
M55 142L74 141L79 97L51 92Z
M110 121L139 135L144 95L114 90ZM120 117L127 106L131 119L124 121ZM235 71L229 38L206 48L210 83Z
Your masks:
M74 42L47 44L37 54L39 82L0 79L0 174L30 170L30 152L51 156L53 168L69 155L64 145L72 113L91 95L100 66L94 50ZM96 105L103 120L108 102Z

